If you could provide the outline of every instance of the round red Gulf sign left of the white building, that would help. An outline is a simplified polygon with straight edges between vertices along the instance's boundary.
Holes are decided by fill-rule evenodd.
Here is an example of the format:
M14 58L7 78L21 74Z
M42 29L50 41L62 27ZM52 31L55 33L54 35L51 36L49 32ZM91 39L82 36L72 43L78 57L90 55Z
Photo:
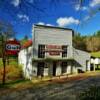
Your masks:
M17 40L8 40L6 42L6 54L7 55L17 55L20 50L20 42Z

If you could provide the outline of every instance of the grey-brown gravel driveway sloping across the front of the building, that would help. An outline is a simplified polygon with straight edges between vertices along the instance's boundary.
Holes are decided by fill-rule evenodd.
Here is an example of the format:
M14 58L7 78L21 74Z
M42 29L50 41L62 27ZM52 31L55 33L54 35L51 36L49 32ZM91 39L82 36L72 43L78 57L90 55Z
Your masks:
M0 96L0 100L76 100L76 95L91 85L100 85L100 75L85 79L52 82Z

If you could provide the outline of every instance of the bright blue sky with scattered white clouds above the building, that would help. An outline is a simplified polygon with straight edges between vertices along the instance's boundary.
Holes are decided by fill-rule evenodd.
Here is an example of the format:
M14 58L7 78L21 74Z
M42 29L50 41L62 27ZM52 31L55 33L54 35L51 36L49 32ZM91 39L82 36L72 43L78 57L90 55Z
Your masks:
M34 0L28 1L34 3ZM39 1L41 1L39 2L40 8L46 8L44 12L36 12L30 9L27 14L18 11L14 15L17 17L17 20L11 14L0 9L0 19L13 24L17 32L17 38L23 38L24 35L31 37L33 24L72 28L82 35L90 35L100 30L100 12L94 15L90 14L91 10L93 11L93 9L100 6L100 0L85 0L82 8L80 8L78 3L73 2L75 0L64 0L64 2L52 5L49 4L49 0ZM21 3L21 0L9 0L8 5L16 10ZM90 18L90 15L92 18Z

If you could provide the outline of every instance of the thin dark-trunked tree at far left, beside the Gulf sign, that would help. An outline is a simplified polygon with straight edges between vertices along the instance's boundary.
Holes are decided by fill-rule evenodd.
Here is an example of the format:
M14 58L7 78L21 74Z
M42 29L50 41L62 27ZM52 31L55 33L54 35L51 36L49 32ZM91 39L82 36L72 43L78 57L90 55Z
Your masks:
M0 52L1 52L1 57L2 57L2 62L3 62L3 79L2 83L3 85L5 84L5 78L6 78L6 41L9 37L14 35L13 28L11 24L5 23L3 21L0 21Z

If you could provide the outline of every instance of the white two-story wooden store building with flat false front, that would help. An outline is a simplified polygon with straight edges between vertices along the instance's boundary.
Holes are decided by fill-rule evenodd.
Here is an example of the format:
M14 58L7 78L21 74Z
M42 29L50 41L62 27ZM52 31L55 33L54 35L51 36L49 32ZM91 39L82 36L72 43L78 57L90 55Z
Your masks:
M25 77L59 76L90 70L90 54L72 46L72 29L34 25L32 32L32 45L19 53Z

